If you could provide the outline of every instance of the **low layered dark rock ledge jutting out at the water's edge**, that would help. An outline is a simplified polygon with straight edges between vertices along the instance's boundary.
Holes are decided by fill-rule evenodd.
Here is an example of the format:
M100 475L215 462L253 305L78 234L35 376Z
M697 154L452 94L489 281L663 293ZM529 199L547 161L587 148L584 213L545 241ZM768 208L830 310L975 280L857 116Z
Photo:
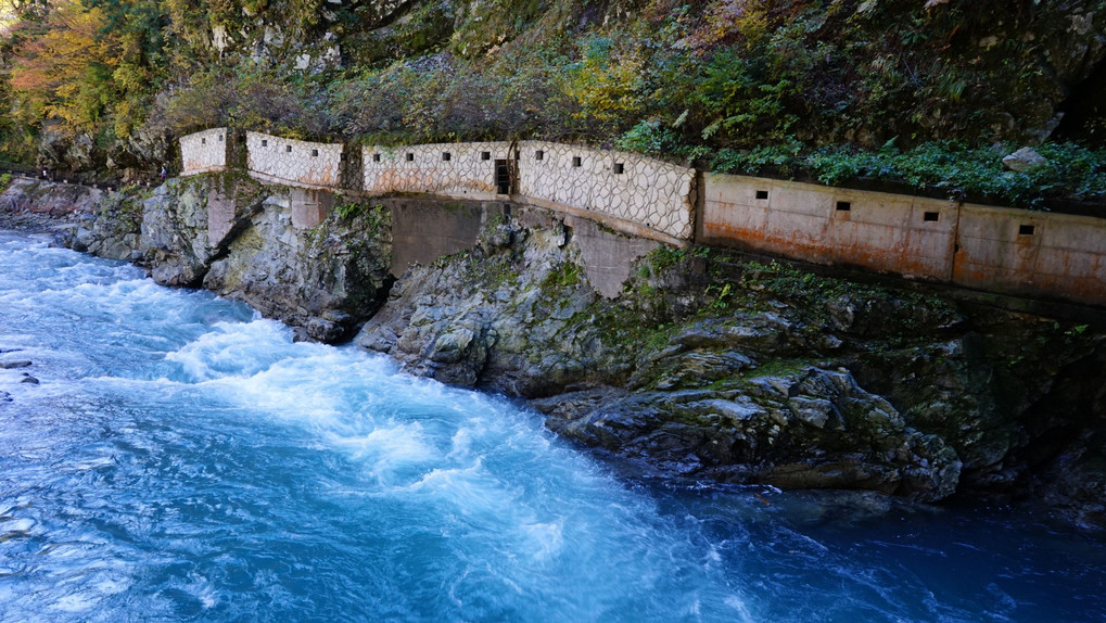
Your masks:
M685 390L535 401L551 428L689 478L784 488L870 489L932 501L961 464L933 435L906 426L848 372L810 367L726 391Z

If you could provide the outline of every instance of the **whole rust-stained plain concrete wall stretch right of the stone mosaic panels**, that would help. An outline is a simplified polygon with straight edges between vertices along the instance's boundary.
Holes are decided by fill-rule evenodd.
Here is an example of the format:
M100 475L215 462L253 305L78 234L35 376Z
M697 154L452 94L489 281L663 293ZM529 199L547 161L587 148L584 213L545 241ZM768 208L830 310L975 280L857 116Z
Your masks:
M698 241L1106 304L1106 220L707 175Z

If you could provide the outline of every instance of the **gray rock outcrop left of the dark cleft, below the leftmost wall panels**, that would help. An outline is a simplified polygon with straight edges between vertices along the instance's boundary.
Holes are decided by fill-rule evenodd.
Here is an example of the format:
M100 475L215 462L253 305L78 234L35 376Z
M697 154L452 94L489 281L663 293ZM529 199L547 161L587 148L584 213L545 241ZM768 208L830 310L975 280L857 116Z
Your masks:
M379 218L378 215L375 215ZM248 178L171 179L149 196L103 201L71 246L138 258L158 283L205 287L334 342L378 305L390 279L389 239L357 218L292 226L288 189ZM386 231L386 230L385 230ZM137 251L137 253L135 253Z

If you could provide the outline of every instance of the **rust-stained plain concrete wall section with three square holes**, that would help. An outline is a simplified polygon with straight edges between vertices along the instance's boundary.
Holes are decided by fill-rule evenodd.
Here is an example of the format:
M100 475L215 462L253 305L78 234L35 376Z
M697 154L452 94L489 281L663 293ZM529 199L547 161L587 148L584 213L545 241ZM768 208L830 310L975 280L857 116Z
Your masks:
M703 186L700 242L951 279L956 203L732 175Z

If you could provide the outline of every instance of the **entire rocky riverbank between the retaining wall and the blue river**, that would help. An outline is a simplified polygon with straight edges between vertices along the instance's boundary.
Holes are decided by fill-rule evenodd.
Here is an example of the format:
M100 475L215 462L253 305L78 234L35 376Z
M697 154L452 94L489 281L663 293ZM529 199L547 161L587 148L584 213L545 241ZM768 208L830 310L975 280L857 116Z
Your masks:
M212 228L209 207L228 197ZM64 239L305 338L359 326L361 346L526 399L637 476L1034 498L1106 526L1106 333L1093 320L713 249L658 249L612 299L588 282L572 227L525 207L393 285L387 210L343 203L314 229L289 212L285 189L199 177L104 198Z

